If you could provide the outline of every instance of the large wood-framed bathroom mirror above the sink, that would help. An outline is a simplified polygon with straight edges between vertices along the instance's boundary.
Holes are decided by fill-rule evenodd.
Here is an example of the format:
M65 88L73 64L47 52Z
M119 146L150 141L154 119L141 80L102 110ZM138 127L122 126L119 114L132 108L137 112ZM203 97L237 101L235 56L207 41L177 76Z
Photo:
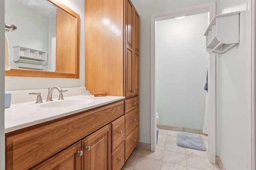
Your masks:
M57 0L5 0L6 76L79 78L79 15Z

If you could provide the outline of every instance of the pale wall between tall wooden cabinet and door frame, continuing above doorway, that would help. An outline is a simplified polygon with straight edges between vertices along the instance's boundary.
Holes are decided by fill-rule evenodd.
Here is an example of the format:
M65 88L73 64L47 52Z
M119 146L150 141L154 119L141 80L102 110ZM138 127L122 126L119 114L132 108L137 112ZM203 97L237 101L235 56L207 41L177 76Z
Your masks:
M132 0L140 15L140 142L150 143L151 14L212 2L212 0Z

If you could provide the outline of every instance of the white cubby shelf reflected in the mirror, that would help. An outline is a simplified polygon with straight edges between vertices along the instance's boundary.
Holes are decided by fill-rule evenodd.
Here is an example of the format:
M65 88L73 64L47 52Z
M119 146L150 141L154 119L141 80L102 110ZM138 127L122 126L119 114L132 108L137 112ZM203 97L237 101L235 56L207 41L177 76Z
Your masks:
M13 61L33 64L43 64L47 61L46 51L13 46Z

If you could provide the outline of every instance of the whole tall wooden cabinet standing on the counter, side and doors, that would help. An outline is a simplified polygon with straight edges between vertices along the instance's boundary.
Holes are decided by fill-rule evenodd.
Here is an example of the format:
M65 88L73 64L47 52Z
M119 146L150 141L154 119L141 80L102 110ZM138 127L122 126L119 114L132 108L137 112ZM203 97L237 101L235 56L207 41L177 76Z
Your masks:
M139 94L140 18L130 0L85 1L85 85L91 94Z

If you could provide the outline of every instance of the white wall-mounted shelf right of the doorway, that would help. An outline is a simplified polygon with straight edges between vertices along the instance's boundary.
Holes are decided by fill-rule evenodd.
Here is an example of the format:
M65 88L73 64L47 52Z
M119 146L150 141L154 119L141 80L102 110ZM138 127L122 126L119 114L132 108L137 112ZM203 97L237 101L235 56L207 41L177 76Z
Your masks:
M230 12L212 18L204 33L208 53L222 54L239 43L239 14L240 11Z

